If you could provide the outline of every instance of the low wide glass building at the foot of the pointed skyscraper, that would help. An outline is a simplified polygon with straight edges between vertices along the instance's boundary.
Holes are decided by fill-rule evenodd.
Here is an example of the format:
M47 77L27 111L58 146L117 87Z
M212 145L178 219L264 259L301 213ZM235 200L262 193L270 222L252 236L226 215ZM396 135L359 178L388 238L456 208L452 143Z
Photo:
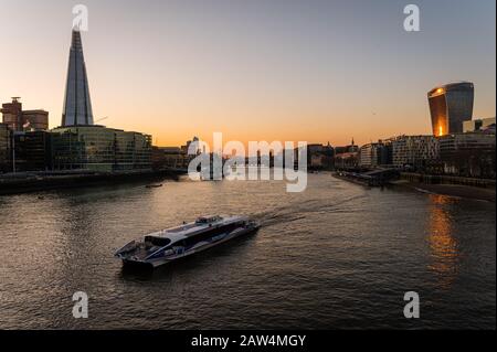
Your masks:
M151 169L151 136L103 126L52 130L55 170L102 172Z

